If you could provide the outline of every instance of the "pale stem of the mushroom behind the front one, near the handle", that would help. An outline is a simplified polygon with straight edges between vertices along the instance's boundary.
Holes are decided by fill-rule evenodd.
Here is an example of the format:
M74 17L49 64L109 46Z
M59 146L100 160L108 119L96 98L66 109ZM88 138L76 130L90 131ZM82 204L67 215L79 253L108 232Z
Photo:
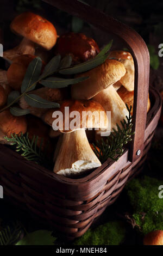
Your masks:
M128 110L121 97L117 94L113 86L110 86L102 92L98 93L93 100L99 102L105 111L111 111L111 131L117 130L117 125L121 125L121 121L128 116Z

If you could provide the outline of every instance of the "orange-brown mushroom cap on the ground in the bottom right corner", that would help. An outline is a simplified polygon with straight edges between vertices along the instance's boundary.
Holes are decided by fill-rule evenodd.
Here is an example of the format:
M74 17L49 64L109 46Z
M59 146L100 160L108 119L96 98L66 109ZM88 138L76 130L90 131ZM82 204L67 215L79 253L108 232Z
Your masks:
M163 245L163 230L155 230L145 235L143 245Z

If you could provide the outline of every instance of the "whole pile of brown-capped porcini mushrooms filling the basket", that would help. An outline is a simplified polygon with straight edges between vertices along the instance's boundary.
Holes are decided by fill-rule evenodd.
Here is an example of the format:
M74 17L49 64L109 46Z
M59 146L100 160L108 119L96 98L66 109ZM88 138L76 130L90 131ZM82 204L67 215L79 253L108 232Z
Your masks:
M7 98L12 90L21 90L21 84L26 74L29 63L37 56L42 59L42 67L46 60L55 54L65 57L70 54L73 64L85 62L99 53L97 43L80 33L66 33L58 36L53 24L43 17L33 13L23 13L15 17L10 25L11 31L23 36L20 45L5 51L4 57L11 60L9 69L0 71L0 108L7 105ZM55 46L55 47L54 47ZM53 48L54 47L54 48ZM39 50L38 50L39 49ZM46 50L46 53L45 53ZM36 54L36 53L39 54ZM42 68L42 69L43 69ZM80 174L86 170L101 166L92 147L94 137L99 139L99 131L86 131L85 129L102 130L107 128L106 114L103 120L93 122L87 117L84 123L85 129L65 130L59 127L58 131L52 129L55 110L65 114L65 107L71 111L111 111L111 131L121 126L121 120L126 118L128 106L133 106L134 99L134 62L127 51L111 51L109 58L96 68L76 75L76 77L89 78L68 88L47 88L40 85L32 92L42 99L60 103L59 109L45 109L29 106L22 96L18 102L22 109L30 109L30 114L16 117L9 109L0 113L0 143L7 144L5 136L11 137L12 133L20 135L29 133L44 139L42 150L47 141L51 142L51 150L54 150L54 173L71 176ZM148 108L150 101L148 99ZM64 120L66 120L64 116ZM81 121L82 122L82 121ZM103 124L100 126L100 124ZM83 126L82 126L83 127ZM53 147L53 141L57 140L57 147ZM55 143L56 144L56 143Z

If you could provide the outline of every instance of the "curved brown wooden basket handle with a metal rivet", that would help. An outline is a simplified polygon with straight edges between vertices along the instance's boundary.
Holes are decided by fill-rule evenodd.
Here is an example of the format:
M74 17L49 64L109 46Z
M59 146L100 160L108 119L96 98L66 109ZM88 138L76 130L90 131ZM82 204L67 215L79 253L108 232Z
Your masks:
M149 52L145 41L134 29L105 15L101 11L77 0L43 0L67 13L92 23L99 29L117 35L129 48L135 64L135 89L133 107L133 129L135 135L130 144L129 161L142 156L147 118L149 87Z

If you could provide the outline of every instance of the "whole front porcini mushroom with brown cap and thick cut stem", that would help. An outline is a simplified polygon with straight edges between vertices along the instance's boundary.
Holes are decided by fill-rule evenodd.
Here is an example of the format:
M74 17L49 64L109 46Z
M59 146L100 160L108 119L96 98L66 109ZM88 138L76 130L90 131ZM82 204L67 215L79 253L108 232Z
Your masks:
M65 107L67 106L70 107L70 113L78 111L80 117L80 119L76 121L76 126L69 129L65 126L65 123L68 122L70 125L72 120L70 121L67 117L65 110ZM53 111L54 109L49 110L43 118L43 120L49 125L53 125ZM105 129L108 126L108 119L104 108L98 102L92 100L69 100L62 103L59 111L61 111L64 117L64 123L62 126L64 128L59 127L59 130L64 133L64 135L62 136L59 153L57 160L55 161L53 169L54 173L71 176L83 173L88 169L101 166L101 162L98 160L97 156L91 149L89 141L87 140L85 128L98 126L98 128ZM96 111L99 114L99 118L92 118L92 114L87 115L87 117L84 118L82 113L88 111L92 114ZM101 111L104 113L103 116L100 115Z

